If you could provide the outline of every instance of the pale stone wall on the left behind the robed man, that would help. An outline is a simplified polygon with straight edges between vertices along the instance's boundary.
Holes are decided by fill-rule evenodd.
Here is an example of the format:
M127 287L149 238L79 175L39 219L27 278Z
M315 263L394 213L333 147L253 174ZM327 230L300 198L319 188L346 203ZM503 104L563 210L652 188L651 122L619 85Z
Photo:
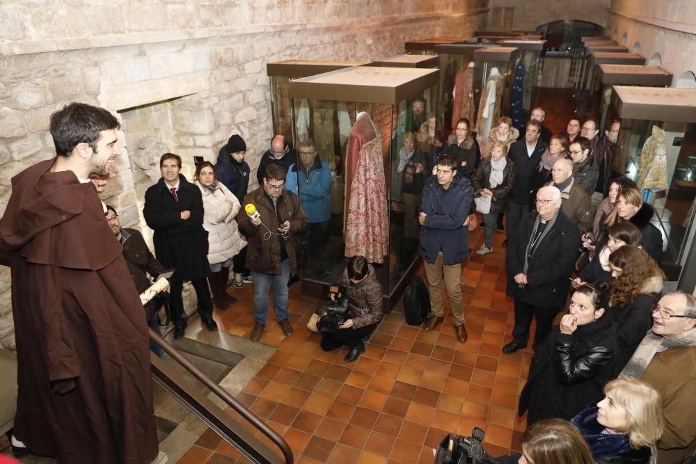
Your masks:
M120 211L124 225L140 227L137 197L152 180L137 155L148 127L156 139L150 142L159 140L184 157L184 172L191 171L193 156L213 160L232 133L246 140L255 169L272 136L267 62L386 58L402 52L406 40L482 29L487 3L4 1L0 213L10 178L54 155L48 118L68 102L104 106L120 117L118 177L102 199ZM14 344L9 287L9 270L0 267L4 347Z

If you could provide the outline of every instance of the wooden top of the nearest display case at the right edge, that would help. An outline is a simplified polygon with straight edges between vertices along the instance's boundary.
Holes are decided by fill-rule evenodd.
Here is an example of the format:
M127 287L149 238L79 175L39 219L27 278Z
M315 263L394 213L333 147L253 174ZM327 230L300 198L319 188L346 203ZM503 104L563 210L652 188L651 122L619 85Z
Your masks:
M696 121L696 89L614 86L612 104L622 119Z

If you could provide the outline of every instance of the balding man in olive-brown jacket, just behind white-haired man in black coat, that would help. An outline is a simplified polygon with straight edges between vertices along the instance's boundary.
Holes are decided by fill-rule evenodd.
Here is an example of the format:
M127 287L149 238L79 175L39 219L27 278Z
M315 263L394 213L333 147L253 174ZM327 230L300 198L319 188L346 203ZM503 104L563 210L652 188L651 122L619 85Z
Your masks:
M573 161L559 159L553 163L551 182L561 191L561 211L576 223L580 233L592 227L592 200L583 187L573 179Z

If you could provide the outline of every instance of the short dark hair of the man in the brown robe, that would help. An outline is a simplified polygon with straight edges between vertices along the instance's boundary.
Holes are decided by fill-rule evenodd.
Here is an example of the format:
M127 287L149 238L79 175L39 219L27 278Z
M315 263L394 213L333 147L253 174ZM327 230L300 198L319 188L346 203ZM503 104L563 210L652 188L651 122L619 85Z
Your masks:
M71 103L51 115L51 136L61 157L69 157L79 143L87 143L97 152L100 132L120 127L109 111L85 103Z

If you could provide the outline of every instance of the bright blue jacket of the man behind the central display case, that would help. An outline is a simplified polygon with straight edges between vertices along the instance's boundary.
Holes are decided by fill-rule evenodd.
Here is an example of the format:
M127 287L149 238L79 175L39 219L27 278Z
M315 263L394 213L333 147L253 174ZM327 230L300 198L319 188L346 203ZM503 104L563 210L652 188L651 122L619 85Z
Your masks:
M331 167L318 157L309 173L297 169L296 164L290 165L285 190L300 195L300 204L310 223L323 223L331 218Z

